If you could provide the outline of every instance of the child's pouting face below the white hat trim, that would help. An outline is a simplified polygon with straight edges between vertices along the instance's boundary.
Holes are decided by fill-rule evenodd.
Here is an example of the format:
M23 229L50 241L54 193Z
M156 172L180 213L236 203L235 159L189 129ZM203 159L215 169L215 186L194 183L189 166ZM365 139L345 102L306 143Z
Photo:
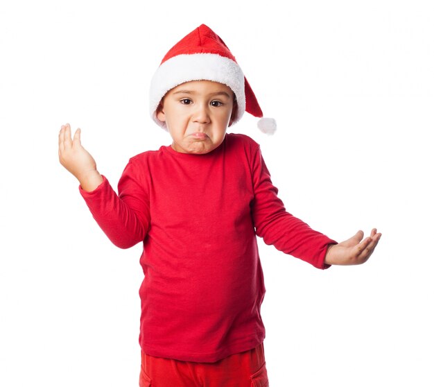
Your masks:
M209 153L225 138L234 107L232 89L211 80L193 80L171 89L157 110L181 153Z

